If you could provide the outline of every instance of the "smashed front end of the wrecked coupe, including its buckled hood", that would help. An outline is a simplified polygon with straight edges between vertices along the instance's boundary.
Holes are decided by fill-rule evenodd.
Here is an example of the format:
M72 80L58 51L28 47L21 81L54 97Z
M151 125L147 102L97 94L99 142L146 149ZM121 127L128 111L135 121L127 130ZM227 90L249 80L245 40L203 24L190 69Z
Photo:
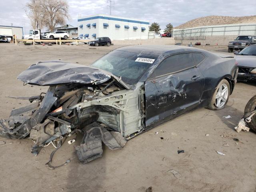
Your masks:
M86 68L92 77L81 77L81 68ZM65 70L68 77L58 77ZM143 83L133 89L120 78L98 69L77 65L70 70L69 63L60 61L32 65L18 79L49 88L46 93L27 98L30 104L13 109L7 120L0 120L0 135L29 137L34 142L34 155L53 141L57 150L64 137L80 132L83 138L76 146L76 154L87 163L102 156L102 142L111 150L119 149L127 139L144 131Z

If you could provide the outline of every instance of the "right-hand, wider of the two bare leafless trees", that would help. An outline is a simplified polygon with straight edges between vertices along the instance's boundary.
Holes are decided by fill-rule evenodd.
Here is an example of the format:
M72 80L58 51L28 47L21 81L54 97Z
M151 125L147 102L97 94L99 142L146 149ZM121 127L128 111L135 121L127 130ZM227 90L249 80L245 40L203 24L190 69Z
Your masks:
M63 25L69 19L68 4L65 0L39 0L42 6L43 23L53 31L56 25Z

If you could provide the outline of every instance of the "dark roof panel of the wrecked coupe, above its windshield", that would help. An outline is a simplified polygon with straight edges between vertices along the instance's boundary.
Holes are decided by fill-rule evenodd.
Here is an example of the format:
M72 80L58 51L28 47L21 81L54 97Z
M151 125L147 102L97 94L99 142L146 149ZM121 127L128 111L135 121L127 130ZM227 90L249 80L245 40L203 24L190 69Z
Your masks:
M202 49L179 45L132 45L120 47L116 50L140 54L153 54L156 56L160 56L161 54L174 54L179 52L206 52Z

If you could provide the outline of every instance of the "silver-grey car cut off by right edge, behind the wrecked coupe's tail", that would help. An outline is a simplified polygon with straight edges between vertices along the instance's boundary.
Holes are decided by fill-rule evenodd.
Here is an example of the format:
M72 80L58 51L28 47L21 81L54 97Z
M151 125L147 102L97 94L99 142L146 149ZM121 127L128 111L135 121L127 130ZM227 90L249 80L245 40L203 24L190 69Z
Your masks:
M238 80L248 81L256 80L256 45L244 48L236 54L238 63Z

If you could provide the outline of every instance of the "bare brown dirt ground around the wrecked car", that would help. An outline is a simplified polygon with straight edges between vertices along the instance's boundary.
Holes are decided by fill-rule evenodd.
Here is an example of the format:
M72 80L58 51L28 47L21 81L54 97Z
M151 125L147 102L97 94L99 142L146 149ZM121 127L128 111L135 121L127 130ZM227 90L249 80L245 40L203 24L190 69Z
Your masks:
M34 96L47 90L23 86L16 79L31 64L61 59L88 65L117 47L0 44L0 118L8 118L13 108L28 103L7 96ZM200 48L227 52L226 46ZM35 157L30 152L32 140L0 137L6 142L0 145L0 192L145 192L150 186L153 192L256 192L256 134L234 130L255 94L255 84L237 83L226 108L183 114L129 140L122 150L104 146L103 157L88 164L80 163L75 154L79 138L72 145L65 142L52 164L68 158L71 162L55 170L45 166L52 145ZM227 115L232 118L222 117ZM176 170L181 178L168 170Z

